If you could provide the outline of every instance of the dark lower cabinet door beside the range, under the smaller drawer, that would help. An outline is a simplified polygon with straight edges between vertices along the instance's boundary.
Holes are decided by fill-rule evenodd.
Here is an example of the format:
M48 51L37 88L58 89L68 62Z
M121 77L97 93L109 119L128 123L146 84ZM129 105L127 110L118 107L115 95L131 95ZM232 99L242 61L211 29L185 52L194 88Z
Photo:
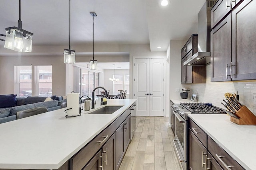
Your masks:
M189 129L188 169L206 170L207 150Z

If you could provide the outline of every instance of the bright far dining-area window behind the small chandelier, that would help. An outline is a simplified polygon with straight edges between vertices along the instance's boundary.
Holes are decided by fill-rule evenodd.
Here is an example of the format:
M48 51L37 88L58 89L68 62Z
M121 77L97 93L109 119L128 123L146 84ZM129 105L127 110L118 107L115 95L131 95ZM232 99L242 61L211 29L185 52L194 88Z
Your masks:
M113 75L113 78L114 78L114 75ZM118 92L118 90L126 90L126 92L129 94L129 87L130 87L129 78L130 78L130 75L115 74L115 78L118 78L119 81L118 82L113 81L113 92Z

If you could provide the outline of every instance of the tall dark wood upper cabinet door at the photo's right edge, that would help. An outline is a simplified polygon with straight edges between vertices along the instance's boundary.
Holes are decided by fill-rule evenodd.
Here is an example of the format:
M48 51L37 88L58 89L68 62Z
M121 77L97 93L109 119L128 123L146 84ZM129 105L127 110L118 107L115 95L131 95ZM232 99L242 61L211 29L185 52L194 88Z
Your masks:
M256 79L256 1L244 0L232 13L232 80Z

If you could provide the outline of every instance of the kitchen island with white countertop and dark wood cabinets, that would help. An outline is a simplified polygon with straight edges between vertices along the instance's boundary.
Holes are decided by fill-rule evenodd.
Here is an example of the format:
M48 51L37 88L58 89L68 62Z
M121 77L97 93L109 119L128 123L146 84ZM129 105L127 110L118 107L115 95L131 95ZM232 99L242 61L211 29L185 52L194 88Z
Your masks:
M0 169L116 170L117 127L123 124L131 132L135 102L109 99L108 105L121 106L112 114L88 114L104 107L96 105L80 117L66 118L65 109L58 109L2 123L0 129L6 133L0 134ZM16 127L22 127L23 133ZM35 138L38 134L40 138Z

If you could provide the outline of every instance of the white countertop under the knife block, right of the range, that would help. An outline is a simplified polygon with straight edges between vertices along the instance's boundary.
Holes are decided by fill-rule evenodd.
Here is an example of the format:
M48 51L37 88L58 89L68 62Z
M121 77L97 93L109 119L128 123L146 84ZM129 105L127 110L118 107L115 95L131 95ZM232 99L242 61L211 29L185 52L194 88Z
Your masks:
M246 170L256 169L255 125L237 125L226 114L188 116Z

